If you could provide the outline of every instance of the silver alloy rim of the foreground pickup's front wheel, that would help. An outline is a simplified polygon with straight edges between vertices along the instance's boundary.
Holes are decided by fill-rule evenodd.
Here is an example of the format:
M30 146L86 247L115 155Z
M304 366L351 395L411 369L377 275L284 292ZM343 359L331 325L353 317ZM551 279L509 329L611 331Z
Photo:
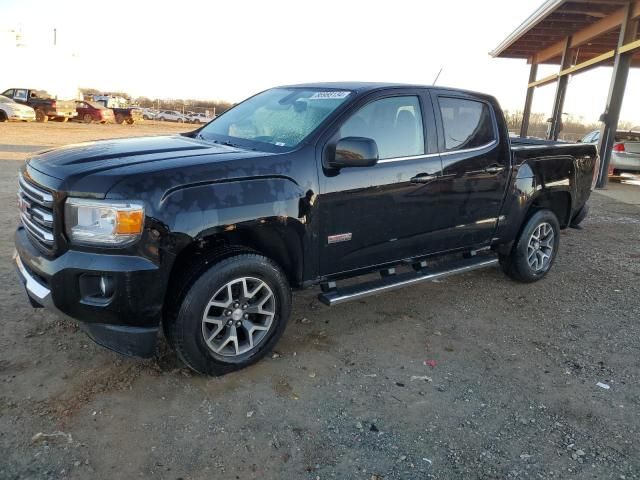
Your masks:
M202 315L202 335L217 355L243 355L267 337L276 299L263 280L241 277L227 282L209 300Z

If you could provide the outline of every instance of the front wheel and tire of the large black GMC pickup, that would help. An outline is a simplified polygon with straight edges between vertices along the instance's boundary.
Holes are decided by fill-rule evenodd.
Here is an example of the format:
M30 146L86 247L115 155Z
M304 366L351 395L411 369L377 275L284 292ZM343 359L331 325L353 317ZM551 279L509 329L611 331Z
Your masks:
M169 344L192 370L207 375L240 370L264 357L284 332L291 290L268 258L232 251L217 262L194 265L184 278L174 284L182 291L163 326Z

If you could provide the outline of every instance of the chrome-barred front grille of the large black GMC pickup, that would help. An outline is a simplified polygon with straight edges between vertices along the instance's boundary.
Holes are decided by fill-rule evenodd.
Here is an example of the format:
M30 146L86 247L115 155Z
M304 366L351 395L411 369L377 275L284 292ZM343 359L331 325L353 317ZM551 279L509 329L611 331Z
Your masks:
M54 198L43 188L19 178L20 219L35 245L47 252L55 248Z

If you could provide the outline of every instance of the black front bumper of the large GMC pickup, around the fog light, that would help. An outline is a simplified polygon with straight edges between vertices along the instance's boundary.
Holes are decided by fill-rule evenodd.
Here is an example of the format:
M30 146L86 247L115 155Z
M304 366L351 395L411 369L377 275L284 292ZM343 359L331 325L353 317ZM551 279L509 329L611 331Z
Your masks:
M164 288L159 267L146 258L69 250L48 259L23 227L15 235L14 262L29 301L79 320L96 343L132 356L155 352ZM111 295L87 291L93 278L109 279Z

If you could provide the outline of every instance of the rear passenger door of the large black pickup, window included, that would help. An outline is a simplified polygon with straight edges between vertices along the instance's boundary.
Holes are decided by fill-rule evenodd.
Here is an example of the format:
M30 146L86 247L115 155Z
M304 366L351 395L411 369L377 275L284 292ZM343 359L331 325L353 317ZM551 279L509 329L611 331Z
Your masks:
M433 90L442 159L433 242L440 251L491 242L510 171L501 110L488 98Z

